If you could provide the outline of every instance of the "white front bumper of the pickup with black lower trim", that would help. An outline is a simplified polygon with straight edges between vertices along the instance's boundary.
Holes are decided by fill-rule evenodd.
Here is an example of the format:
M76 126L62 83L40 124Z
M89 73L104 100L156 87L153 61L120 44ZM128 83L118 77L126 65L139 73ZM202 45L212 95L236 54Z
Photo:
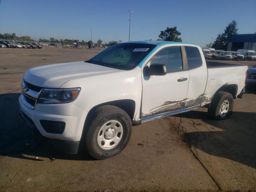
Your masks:
M50 140L54 147L67 153L76 153L87 112L72 102L66 104L37 104L35 109L31 109L22 102L22 96L19 97L20 114L28 127ZM46 132L40 120L65 122L64 132L61 134Z

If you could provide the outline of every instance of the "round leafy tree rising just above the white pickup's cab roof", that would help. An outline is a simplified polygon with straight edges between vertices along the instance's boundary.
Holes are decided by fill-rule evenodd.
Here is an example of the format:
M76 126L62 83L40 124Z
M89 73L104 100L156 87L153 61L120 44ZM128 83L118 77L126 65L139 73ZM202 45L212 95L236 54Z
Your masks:
M182 42L182 39L178 37L179 35L181 35L181 32L179 32L177 26L175 26L171 28L167 27L166 30L160 32L158 37L164 41Z

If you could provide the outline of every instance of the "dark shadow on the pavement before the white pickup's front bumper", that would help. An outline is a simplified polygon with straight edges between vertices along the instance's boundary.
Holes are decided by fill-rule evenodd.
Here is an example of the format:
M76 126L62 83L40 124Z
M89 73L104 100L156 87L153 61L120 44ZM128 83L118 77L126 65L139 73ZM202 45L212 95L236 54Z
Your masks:
M47 143L38 142L19 115L19 96L18 93L0 94L0 157L10 156L34 161L42 161L40 157L51 160L94 160L85 153L65 154Z

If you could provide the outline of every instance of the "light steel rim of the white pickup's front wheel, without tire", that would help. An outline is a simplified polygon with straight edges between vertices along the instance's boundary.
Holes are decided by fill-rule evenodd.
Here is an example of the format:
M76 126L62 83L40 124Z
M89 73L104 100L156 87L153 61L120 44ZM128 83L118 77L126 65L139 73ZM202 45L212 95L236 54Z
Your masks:
M117 120L110 120L98 132L98 145L105 150L112 149L120 143L123 133L122 124Z

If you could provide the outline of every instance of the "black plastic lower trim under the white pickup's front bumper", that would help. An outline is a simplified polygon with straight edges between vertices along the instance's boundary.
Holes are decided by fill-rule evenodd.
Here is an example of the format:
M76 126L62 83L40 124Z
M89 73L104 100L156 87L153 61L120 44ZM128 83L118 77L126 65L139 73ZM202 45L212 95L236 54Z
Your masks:
M24 114L24 112L20 111L20 116L26 122L28 128L30 128L34 132L37 138L40 138L40 140L44 140L45 142L49 142L57 150L65 153L77 154L80 141L65 141L44 137L38 131L34 122L26 114Z

